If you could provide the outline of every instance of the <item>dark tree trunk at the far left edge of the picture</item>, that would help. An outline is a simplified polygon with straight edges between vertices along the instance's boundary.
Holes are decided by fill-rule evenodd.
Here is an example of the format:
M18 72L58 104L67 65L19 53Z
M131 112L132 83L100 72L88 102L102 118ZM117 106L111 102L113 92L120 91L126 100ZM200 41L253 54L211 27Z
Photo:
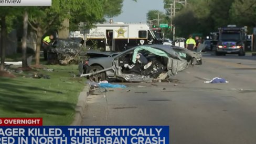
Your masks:
M5 43L6 43L6 37L7 37L7 27L6 27L6 16L1 16L1 64L0 64L0 70L4 70L4 62L5 62Z

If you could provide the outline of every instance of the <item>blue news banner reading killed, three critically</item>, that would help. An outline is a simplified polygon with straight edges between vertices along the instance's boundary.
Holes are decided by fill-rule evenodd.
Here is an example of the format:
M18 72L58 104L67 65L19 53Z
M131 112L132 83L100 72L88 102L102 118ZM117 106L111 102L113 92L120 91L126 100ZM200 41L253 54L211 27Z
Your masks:
M4 126L4 143L169 143L169 126Z

